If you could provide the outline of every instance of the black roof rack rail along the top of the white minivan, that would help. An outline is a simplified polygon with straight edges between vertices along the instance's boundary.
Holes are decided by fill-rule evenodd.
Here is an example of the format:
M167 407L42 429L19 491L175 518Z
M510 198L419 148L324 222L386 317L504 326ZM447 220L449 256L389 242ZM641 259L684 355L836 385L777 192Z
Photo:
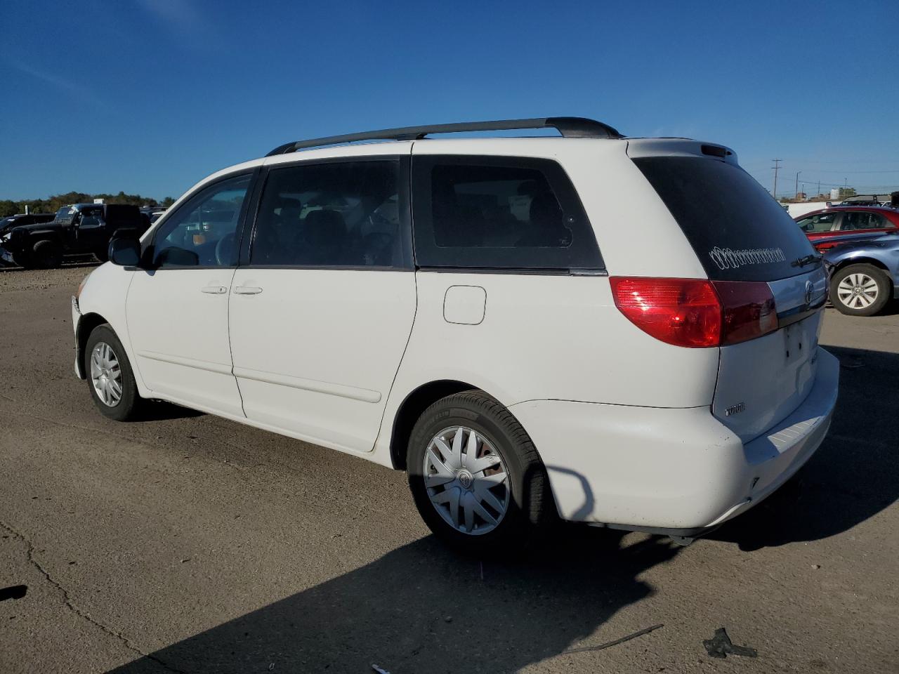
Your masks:
M495 121L463 121L453 124L434 124L423 127L401 127L399 129L380 129L378 131L362 131L343 136L311 138L285 143L277 146L268 155L286 155L289 152L321 147L355 143L360 140L421 140L432 133L459 133L462 131L503 131L509 129L557 129L565 138L621 138L616 129L601 121L588 120L584 117L539 117L531 120L495 120Z

